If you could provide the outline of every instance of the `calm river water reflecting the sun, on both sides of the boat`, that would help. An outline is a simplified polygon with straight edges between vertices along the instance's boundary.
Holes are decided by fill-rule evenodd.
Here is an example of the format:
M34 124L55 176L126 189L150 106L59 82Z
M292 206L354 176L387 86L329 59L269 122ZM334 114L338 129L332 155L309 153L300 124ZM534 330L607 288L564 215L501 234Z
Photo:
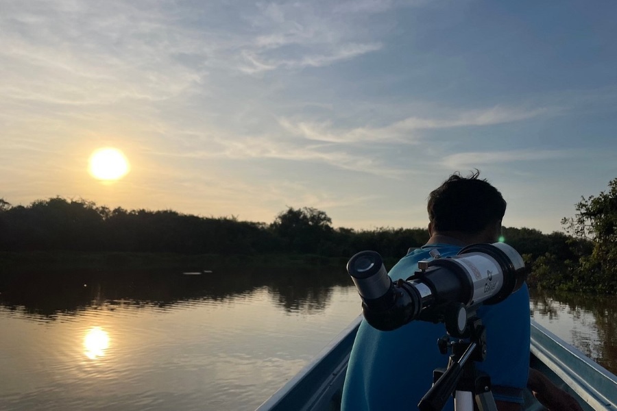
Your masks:
M359 305L344 269L3 273L0 410L254 410ZM614 298L531 315L617 371Z

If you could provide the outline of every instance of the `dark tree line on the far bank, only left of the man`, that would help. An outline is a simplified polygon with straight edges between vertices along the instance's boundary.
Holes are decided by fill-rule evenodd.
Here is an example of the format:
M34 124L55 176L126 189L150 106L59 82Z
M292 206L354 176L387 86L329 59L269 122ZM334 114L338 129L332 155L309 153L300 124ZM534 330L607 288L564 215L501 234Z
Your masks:
M184 254L300 253L351 256L378 249L403 256L426 229L333 228L315 208L288 208L274 222L203 217L173 210L111 210L84 199L54 197L28 206L0 199L0 251L120 251Z

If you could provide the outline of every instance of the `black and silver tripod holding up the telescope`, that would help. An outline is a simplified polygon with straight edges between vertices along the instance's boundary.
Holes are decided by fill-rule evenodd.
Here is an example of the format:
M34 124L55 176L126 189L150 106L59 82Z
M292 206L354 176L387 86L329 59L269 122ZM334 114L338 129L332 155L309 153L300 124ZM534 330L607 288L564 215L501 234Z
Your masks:
M475 366L476 361L486 358L486 329L481 319L472 316L467 319L465 327L456 326L455 329L452 329L451 324L446 321L446 330L450 335L437 342L443 354L448 352L448 347L452 349L448 368L446 371L436 369L433 372L433 386L422 397L418 408L420 411L440 411L448 397L456 391L456 411L474 411L474 399L479 411L496 411L491 379ZM452 335L457 338L452 340ZM461 337L468 337L468 340L462 340Z

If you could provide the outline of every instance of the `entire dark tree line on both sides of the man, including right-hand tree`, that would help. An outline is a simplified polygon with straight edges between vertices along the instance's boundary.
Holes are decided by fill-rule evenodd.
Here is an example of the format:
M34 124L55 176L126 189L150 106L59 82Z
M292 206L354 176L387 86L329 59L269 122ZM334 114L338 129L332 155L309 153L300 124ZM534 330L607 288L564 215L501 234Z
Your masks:
M505 242L531 268L539 288L617 292L617 179L582 198L565 232L504 227ZM428 239L425 228L332 227L322 210L289 207L272 223L173 210L125 210L53 197L28 206L0 199L0 251L112 251L219 255L313 254L349 258L371 249L398 259Z

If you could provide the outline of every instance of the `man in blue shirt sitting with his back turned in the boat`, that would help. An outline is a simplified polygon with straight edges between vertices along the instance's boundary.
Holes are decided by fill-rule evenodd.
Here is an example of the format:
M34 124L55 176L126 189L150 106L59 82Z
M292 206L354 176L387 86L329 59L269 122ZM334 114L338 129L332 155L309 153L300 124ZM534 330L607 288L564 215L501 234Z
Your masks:
M428 198L430 238L410 251L390 271L393 280L406 279L418 261L431 260L432 250L442 258L455 256L465 245L498 240L506 202L500 192L476 171L470 177L450 176ZM505 301L481 306L478 316L487 329L487 356L477 362L491 377L498 410L520 410L522 390L529 375L529 292L527 285ZM433 370L445 367L439 353L444 336L441 323L412 321L394 331L381 332L362 322L350 356L342 408L413 410L433 383ZM453 401L446 404L452 409Z

